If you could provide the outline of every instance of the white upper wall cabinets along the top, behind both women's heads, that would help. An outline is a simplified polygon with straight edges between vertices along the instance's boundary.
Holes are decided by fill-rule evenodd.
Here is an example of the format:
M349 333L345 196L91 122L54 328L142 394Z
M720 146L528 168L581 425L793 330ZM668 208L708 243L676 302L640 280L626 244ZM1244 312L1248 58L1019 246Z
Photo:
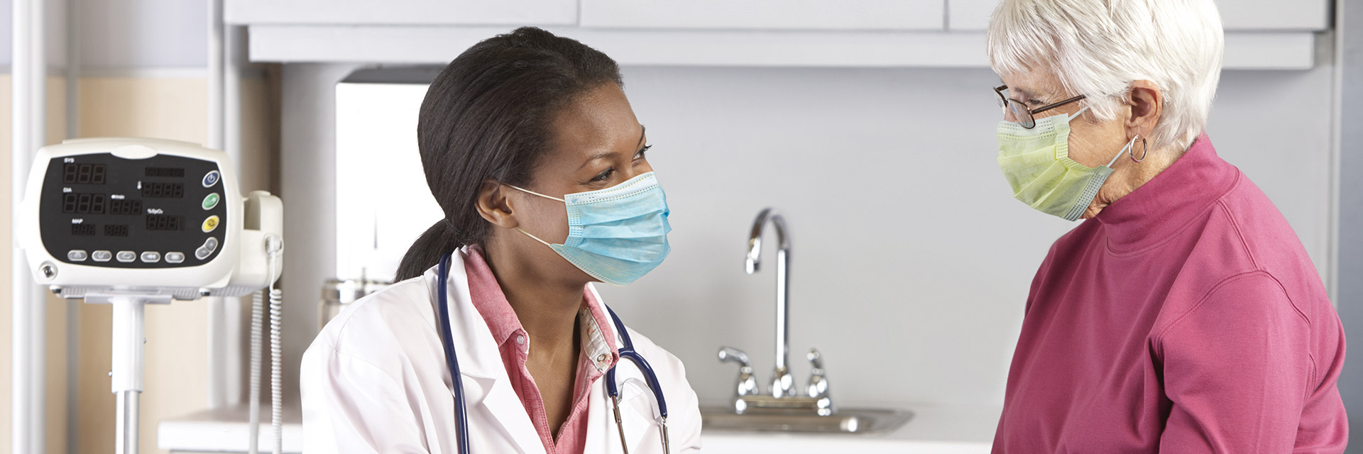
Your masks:
M446 64L514 26L626 65L981 68L999 0L225 0L252 61ZM1344 1L1344 0L1340 0ZM1219 0L1227 70L1307 70L1329 0Z

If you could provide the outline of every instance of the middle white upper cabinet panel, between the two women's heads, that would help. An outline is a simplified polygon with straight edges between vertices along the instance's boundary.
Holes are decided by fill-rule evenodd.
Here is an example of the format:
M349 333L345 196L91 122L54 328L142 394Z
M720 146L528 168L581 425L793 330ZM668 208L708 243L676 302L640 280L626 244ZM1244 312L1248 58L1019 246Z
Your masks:
M942 30L943 0L582 0L582 27Z

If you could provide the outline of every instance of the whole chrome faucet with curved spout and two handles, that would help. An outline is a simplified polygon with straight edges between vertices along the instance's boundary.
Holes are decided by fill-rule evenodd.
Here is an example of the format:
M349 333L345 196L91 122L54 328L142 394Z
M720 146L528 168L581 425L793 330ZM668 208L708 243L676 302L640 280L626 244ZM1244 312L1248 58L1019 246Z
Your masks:
M785 218L774 209L763 209L752 222L748 236L747 273L758 271L762 254L762 228L770 221L776 226L776 367L771 372L770 394L762 395L756 379L752 378L752 364L748 356L735 348L721 348L720 361L739 363L739 379L733 394L733 412L746 414L750 410L812 412L819 416L834 413L829 397L829 382L823 371L823 360L818 350L810 349L806 357L812 364L804 395L796 393L795 379L789 369L791 352L791 234Z

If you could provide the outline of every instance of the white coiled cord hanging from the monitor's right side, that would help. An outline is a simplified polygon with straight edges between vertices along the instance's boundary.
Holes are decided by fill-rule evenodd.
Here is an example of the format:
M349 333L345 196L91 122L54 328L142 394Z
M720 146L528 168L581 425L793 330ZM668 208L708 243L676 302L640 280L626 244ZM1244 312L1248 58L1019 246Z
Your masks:
M284 451L284 348L279 327L284 318L284 292L274 288L274 269L278 263L284 240L277 234L266 236L266 275L270 281L270 425L274 428L274 454ZM264 324L264 290L251 297L251 442L248 451L258 454L260 438L260 337Z

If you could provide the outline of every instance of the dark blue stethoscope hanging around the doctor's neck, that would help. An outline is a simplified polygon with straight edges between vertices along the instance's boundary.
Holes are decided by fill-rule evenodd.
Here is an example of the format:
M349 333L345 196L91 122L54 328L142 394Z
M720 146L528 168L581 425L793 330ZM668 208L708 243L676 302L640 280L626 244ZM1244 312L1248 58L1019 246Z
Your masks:
M436 316L440 318L440 344L444 346L444 361L450 364L450 378L454 380L454 436L459 443L459 454L469 454L469 414L463 406L463 376L459 375L459 360L454 356L454 335L450 331L448 299L446 297L446 281L450 278L451 255L446 254L440 256L440 264L436 267ZM658 384L658 376L653 374L653 367L649 365L649 361L639 352L634 350L634 342L630 341L630 331L624 329L624 323L620 323L620 318L609 307L605 309L611 314L611 320L615 322L615 331L620 333L620 339L624 341L624 346L616 352L620 353L622 359L628 359L643 372L643 379L658 402L662 453L671 454L672 451L668 447L668 402L662 399L662 387ZM620 389L615 383L615 367L611 367L605 372L605 390L611 395L611 406L615 409L615 427L620 431L620 446L624 449L624 454L630 454L630 444L624 440L624 425L620 423Z

